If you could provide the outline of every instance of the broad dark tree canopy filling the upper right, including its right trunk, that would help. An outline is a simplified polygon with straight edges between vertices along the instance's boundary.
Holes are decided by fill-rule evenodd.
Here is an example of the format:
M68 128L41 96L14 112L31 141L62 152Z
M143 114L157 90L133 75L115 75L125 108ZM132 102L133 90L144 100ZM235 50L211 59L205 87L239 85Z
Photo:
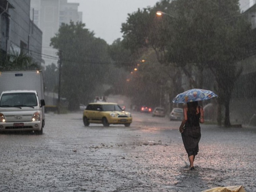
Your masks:
M254 41L238 3L238 0L163 0L153 8L130 14L122 24L127 48L137 51L151 46L159 63L175 66L172 71L177 73L170 76L174 92L178 88L175 77L179 69L188 77L191 88L203 88L203 80L207 78L203 76L204 70L210 69L221 98L219 102L225 104L226 126L230 125L229 101L234 83L242 72L236 64L248 55ZM157 18L157 10L167 14ZM192 69L196 69L197 79Z

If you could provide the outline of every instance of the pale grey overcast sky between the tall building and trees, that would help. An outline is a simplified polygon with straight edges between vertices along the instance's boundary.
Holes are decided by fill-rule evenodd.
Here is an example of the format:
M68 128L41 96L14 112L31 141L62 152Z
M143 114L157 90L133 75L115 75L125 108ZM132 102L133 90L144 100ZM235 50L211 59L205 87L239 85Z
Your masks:
M78 11L83 12L83 23L95 37L112 44L122 38L121 24L126 22L128 13L138 8L153 7L159 0L68 0L79 3Z

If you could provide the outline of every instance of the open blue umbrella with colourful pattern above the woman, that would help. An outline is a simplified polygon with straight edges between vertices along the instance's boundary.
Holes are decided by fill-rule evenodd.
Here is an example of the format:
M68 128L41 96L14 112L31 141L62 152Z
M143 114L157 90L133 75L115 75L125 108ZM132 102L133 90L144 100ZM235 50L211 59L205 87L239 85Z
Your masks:
M178 94L173 100L173 103L187 103L192 101L202 101L213 97L217 97L215 93L204 89L190 89Z

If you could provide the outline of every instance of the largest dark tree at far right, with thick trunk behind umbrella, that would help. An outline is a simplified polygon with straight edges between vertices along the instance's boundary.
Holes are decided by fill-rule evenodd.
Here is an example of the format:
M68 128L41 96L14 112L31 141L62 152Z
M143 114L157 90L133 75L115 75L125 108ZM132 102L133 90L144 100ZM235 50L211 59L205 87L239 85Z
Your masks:
M228 127L231 94L242 72L236 64L247 56L252 42L250 24L240 14L238 0L177 0L173 4L179 17L174 25L175 38L168 47L168 60L182 68L197 67L201 80L203 70L211 69L219 105L224 104L226 109L224 125ZM202 82L194 84L203 86Z

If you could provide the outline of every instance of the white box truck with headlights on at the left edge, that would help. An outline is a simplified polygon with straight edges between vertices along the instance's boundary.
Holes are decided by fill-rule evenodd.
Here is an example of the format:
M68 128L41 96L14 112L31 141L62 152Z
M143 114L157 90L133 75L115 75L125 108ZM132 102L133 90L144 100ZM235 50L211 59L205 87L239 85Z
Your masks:
M0 132L43 134L44 87L41 70L0 72Z

